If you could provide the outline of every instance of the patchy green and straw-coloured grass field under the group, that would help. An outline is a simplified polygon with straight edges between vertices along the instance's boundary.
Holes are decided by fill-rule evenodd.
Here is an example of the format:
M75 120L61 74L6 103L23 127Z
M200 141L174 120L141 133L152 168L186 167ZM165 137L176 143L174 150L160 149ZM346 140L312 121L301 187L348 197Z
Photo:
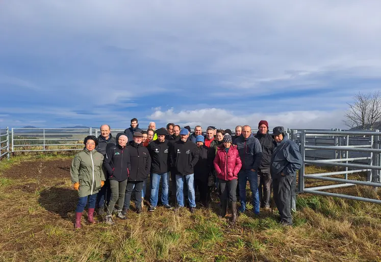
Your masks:
M215 198L194 214L130 211L116 226L83 222L74 231L71 158L0 162L0 261L381 261L381 205L307 194L298 196L293 227L278 224L276 209L247 212L232 226ZM324 169L307 169L316 172ZM361 186L336 190L381 198Z

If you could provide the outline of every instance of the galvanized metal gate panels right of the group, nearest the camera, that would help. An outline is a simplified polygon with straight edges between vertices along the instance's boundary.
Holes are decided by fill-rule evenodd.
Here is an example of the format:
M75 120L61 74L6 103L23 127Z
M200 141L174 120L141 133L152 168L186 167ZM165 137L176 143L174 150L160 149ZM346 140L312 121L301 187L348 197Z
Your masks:
M309 145L309 137L334 137L336 141L335 146L319 146ZM299 133L300 153L303 159L302 168L299 171L298 177L298 193L310 193L323 196L339 197L351 200L360 200L365 202L381 204L381 200L355 197L344 194L336 194L331 192L324 192L326 189L333 189L338 187L346 187L352 185L367 185L372 187L381 187L380 170L381 170L381 149L380 149L380 132L375 131L322 131L322 130L302 130ZM367 145L350 145L351 137L367 137ZM341 141L345 141L342 145ZM335 158L323 160L307 160L306 153L309 150L332 150L335 151ZM361 152L363 156L350 157L351 152ZM353 163L355 161L367 161L367 164ZM337 166L342 168L341 171L305 174L306 164ZM348 174L367 172L366 181L350 180ZM332 177L334 175L343 175L342 178ZM333 181L338 184L305 187L306 179L319 179L322 181Z

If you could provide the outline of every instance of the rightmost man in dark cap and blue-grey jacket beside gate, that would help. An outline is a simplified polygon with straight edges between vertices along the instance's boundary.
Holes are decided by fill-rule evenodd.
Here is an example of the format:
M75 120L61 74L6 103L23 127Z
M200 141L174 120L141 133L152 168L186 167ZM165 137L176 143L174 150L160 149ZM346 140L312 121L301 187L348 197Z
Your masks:
M281 224L292 225L291 188L302 159L298 145L288 139L284 127L275 127L272 137L276 142L270 162L274 201L281 215Z

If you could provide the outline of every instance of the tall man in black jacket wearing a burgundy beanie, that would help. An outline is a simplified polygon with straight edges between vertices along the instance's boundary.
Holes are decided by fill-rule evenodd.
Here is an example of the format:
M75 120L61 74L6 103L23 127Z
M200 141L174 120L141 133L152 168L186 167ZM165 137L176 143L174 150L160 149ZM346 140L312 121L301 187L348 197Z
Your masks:
M258 124L258 132L255 137L258 138L262 147L262 160L258 170L258 192L259 202L261 207L266 209L270 208L270 194L271 194L271 175L270 175L270 161L272 151L275 147L274 138L269 134L269 125L267 121L261 120Z

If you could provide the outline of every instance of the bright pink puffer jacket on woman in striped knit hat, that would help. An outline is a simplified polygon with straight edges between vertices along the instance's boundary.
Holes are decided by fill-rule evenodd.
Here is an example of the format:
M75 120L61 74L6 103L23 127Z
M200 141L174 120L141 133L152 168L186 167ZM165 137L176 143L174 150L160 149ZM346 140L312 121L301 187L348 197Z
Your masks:
M217 148L217 154L213 161L218 179L233 180L238 178L238 172L241 170L242 162L239 156L237 146L230 146L226 153L223 145Z

